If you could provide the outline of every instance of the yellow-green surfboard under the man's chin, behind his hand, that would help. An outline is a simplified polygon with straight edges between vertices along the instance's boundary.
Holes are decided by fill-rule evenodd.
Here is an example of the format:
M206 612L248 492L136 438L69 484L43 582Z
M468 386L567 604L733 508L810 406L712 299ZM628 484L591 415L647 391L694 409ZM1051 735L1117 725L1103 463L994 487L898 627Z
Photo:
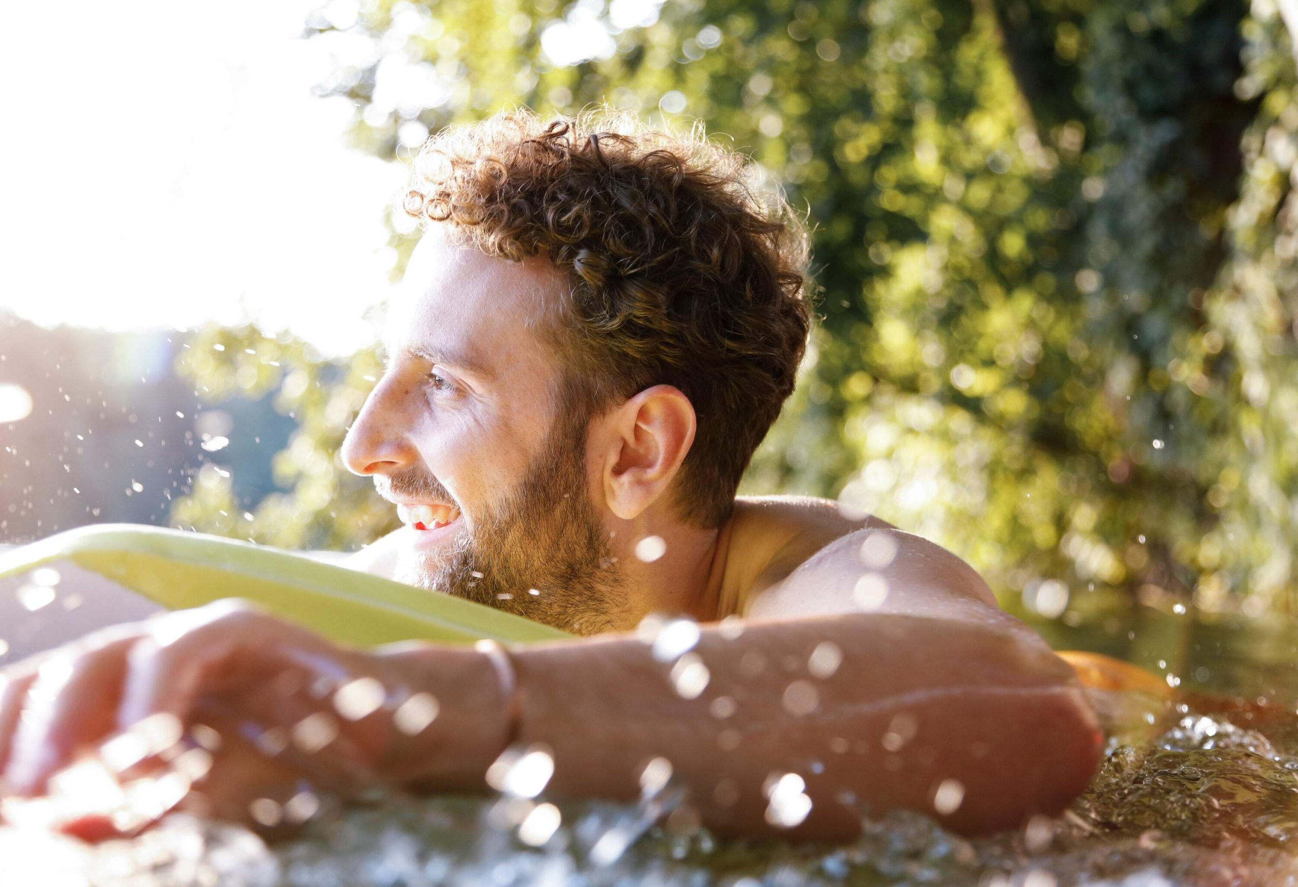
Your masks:
M491 606L278 548L125 523L69 530L0 555L3 587L10 588L9 593L0 593L0 608L13 612L0 612L0 639L19 630L25 621L73 618L69 612L67 617L55 619L51 618L55 613L49 612L60 609L60 603L70 596L77 599L77 610L96 610L92 617L78 614L73 621L101 625L139 618L158 609L186 609L223 597L241 597L357 647L397 640L472 643L489 638L528 643L570 636ZM144 600L132 601L122 590ZM108 599L112 605L104 603ZM6 644L32 645L22 642L22 638L9 638Z

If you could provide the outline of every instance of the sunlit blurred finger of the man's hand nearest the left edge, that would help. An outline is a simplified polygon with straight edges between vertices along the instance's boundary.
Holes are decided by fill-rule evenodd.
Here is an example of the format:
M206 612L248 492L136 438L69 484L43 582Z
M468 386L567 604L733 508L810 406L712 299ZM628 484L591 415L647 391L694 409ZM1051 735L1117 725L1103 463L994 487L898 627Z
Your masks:
M101 632L40 662L4 770L10 790L42 790L77 749L113 730L126 655L138 638L138 631Z

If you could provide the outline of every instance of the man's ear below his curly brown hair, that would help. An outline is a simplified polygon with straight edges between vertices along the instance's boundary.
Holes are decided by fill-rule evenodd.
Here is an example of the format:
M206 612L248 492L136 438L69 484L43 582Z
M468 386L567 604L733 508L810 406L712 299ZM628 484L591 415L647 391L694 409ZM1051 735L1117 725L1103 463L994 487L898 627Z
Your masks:
M618 517L640 516L671 486L694 443L694 406L679 388L655 384L613 410L604 495Z

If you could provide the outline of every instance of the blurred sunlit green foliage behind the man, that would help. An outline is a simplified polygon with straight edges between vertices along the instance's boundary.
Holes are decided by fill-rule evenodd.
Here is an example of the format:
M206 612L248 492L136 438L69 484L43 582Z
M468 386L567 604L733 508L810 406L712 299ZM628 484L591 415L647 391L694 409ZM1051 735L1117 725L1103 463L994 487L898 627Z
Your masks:
M379 157L501 106L609 103L698 121L783 183L819 323L744 492L837 497L1050 608L1292 606L1298 103L1269 0L382 0L308 25L373 45L321 90ZM393 105L395 78L426 99ZM400 275L414 235L387 212ZM296 425L269 492L195 465L171 523L334 549L396 527L337 460L374 351L186 344L200 401Z

